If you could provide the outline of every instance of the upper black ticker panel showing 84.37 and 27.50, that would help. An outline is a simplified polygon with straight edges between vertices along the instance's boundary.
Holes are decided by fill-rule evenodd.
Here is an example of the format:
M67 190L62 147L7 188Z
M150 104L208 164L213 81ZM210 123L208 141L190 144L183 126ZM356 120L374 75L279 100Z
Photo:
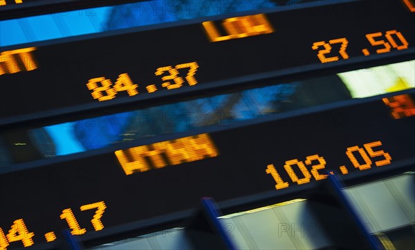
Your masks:
M0 125L131 106L155 97L225 87L252 75L265 74L264 78L306 69L333 70L385 57L413 57L411 4L313 3L310 8L279 8L185 21L180 26L163 24L4 47Z

